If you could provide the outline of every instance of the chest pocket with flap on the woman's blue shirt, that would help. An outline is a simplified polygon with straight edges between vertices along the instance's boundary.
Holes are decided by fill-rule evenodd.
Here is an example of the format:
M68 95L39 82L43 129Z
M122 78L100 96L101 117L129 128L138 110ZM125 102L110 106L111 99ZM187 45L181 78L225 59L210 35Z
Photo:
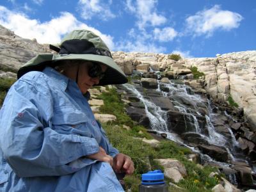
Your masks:
M88 129L88 116L73 106L61 106L54 109L51 118L52 129L60 134L78 134L92 137Z

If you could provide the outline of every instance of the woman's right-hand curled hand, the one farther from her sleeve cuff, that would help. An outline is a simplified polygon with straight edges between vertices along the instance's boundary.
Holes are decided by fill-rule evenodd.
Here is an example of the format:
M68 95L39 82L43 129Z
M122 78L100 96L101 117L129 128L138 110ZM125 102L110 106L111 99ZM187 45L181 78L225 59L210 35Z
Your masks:
M113 170L115 170L116 173L125 172L131 175L134 172L134 164L131 157L125 154L117 154L114 157Z

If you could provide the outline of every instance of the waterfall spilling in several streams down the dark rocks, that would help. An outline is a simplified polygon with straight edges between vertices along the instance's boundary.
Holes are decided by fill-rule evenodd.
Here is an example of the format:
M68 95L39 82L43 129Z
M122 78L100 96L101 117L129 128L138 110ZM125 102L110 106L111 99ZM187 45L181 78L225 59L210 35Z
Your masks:
M157 78L158 79L158 78ZM143 102L145 106L145 113L149 118L150 121L150 128L154 131L157 131L158 134L165 133L166 138L169 140L175 141L180 145L186 146L191 148L196 153L200 153L198 149L192 147L193 145L185 144L182 138L180 138L179 134L172 131L172 127L168 125L172 116L168 116L167 118L167 111L162 110L159 106L156 106L153 102L151 102L147 97L143 96L132 84L124 84L124 87L134 93L140 102ZM166 88L165 92L162 92L161 89ZM200 139L207 141L210 145L215 145L217 147L221 147L226 150L228 153L228 157L231 161L239 161L248 163L244 159L239 159L236 157L236 148L239 147L239 143L236 141L236 138L229 127L224 128L227 130L226 133L230 135L230 138L226 138L225 135L216 131L214 125L212 124L213 119L217 118L216 115L220 115L221 113L214 113L212 111L211 102L208 99L203 98L201 95L193 93L191 88L186 84L175 84L170 81L170 83L161 83L157 80L157 89L156 92L160 92L163 97L168 97L173 107L177 109L180 113L182 113L184 117L184 126L187 126L188 123L191 125L193 124L193 131L186 132L188 134L193 134L195 132L196 135L200 136ZM203 111L200 109L204 109ZM216 108L218 109L218 108ZM228 119L234 120L232 116L228 115L227 112L222 116L227 116ZM205 125L198 122L198 120L205 120ZM202 127L204 125L204 127ZM169 126L169 127L168 127ZM205 132L202 131L202 128L207 130ZM191 130L191 129L190 129ZM227 135L229 137L229 135ZM212 159L211 157L201 154L203 161L212 162L214 164L219 164L220 166L230 166L228 163L218 162ZM242 154L239 154L241 156ZM243 157L242 157L243 158ZM236 183L236 178L233 178L234 175L228 176Z

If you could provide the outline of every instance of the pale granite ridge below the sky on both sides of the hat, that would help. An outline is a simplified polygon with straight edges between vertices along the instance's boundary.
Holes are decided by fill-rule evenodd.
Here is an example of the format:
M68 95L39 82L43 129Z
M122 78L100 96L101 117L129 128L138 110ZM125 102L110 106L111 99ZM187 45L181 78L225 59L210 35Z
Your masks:
M12 31L0 26L0 77L15 77L15 72L36 54L51 52L48 45L36 40L20 38ZM196 66L204 72L200 83L211 97L218 102L227 102L231 95L244 109L246 120L256 131L256 51L233 52L216 58L184 58L179 61L168 59L167 54L143 52L112 52L116 63L125 74L132 70L142 72L165 70L170 74L188 74L188 68ZM189 85L196 86L195 82Z

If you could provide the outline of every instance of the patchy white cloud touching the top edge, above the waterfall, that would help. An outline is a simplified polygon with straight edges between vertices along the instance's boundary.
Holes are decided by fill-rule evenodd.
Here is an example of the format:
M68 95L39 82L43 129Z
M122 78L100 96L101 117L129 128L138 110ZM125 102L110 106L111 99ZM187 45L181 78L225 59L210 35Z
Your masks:
M132 5L132 0L126 0L126 8L131 13L134 13L138 18L136 24L140 29L147 25L159 26L166 22L163 15L157 14L156 4L157 0L136 0L135 5Z

